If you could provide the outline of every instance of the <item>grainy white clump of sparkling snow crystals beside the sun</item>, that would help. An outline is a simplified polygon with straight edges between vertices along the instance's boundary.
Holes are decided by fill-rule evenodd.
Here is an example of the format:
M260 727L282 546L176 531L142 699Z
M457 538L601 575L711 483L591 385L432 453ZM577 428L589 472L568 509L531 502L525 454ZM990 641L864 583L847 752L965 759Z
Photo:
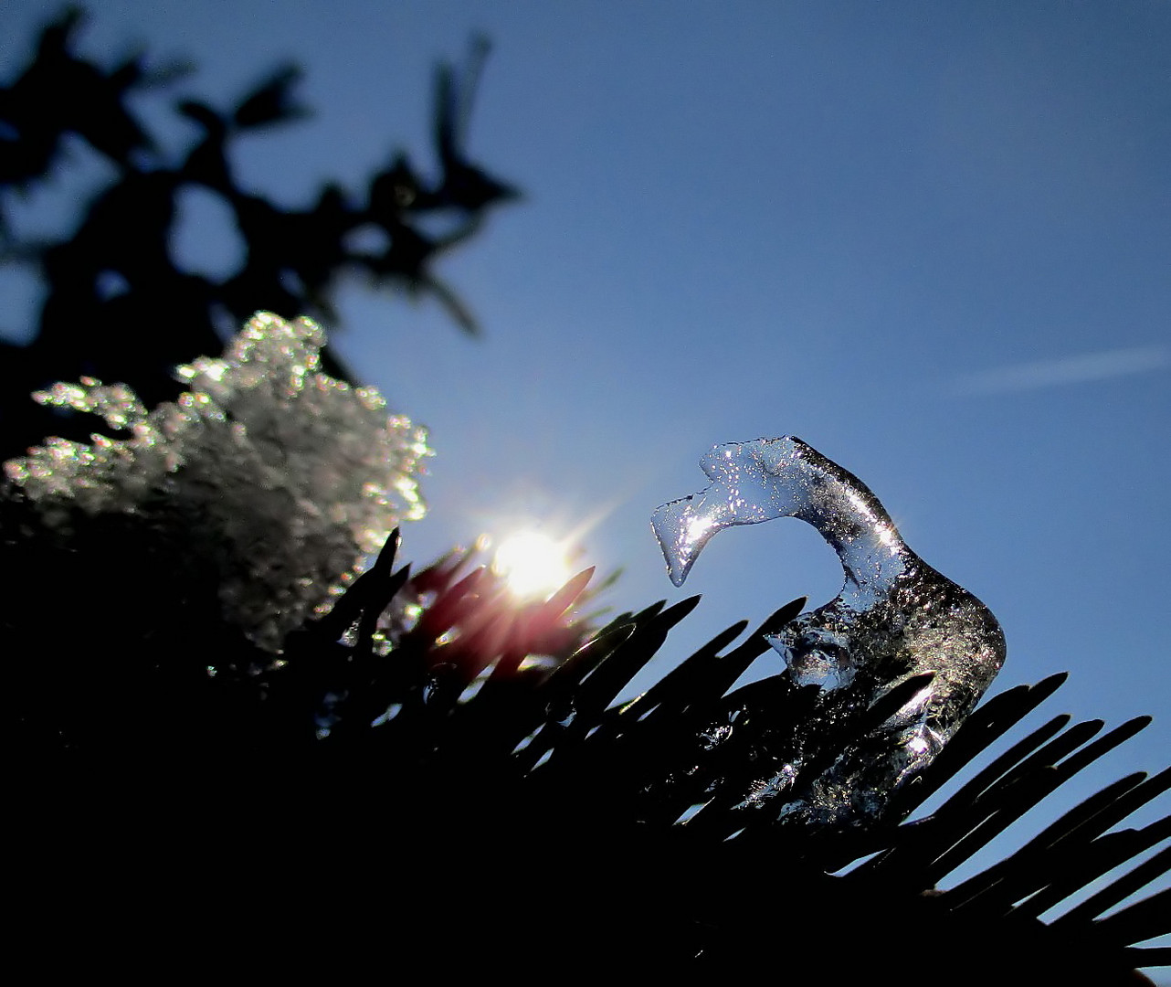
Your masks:
M48 438L5 463L8 494L33 502L56 533L87 516L128 515L182 539L218 570L225 620L279 651L400 520L425 510L425 430L388 415L372 388L322 373L324 341L308 319L259 313L222 358L179 367L189 389L150 411L125 384L54 384L34 399L96 414L125 437Z

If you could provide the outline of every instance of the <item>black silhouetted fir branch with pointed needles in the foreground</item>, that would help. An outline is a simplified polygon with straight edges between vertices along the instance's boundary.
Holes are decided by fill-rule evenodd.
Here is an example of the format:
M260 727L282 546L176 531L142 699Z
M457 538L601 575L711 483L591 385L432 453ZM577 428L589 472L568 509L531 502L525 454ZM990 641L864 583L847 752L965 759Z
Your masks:
M20 509L8 503L5 530ZM724 797L785 755L814 703L787 674L727 693L761 634L734 645L744 627L728 628L615 703L696 599L622 614L573 651L588 572L519 612L466 558L396 571L392 538L274 661L215 619L213 587L191 573L169 585L165 551L110 524L84 553L6 547L28 576L4 627L9 887L15 939L47 968L1127 983L1167 961L1134 948L1169 931L1167 892L1102 913L1167 869L1165 850L1135 865L1167 821L1107 831L1171 771L1121 780L936 890L1145 726L1057 716L997 746L1064 675L986 702L878 824L793 826ZM163 564L126 593L97 578L115 547ZM400 613L396 598L429 606L378 621ZM904 702L896 692L822 736L822 761ZM730 742L710 742L717 723L734 724ZM908 822L945 785L950 798ZM1086 903L1038 918L1128 862Z

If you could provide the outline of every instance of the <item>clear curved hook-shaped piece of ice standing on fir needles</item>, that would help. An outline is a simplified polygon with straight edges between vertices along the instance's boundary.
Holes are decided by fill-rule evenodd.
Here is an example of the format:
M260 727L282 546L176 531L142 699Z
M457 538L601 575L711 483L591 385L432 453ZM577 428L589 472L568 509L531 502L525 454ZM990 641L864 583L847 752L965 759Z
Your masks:
M801 440L718 445L700 465L712 484L664 504L652 519L676 586L718 531L800 518L837 552L845 584L830 603L767 635L793 681L817 686L820 707L841 716L861 715L900 682L934 673L930 685L842 749L813 780L802 781L808 758L801 751L815 748L815 738L799 740L789 761L773 764L740 804L771 804L780 816L822 823L879 816L890 795L918 776L956 733L1000 671L1000 625L975 597L908 547L857 477ZM807 726L816 729L815 722Z

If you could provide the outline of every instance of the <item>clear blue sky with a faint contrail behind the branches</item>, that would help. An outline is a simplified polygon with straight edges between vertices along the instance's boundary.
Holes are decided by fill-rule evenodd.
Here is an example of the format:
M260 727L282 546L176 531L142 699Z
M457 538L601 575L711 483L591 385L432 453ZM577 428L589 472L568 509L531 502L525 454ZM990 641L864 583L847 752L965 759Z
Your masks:
M0 5L6 75L55 11ZM408 556L519 519L580 530L583 564L625 569L619 608L703 593L665 663L836 593L795 520L725 532L683 590L650 533L657 504L704 485L710 445L795 434L995 612L1000 688L1070 669L1050 713L1157 715L1082 796L1171 761L1171 5L94 13L83 49L190 56L187 88L222 104L300 60L319 116L237 161L290 204L326 177L356 188L398 145L427 161L434 60L492 38L471 149L527 199L440 267L486 339L358 287L335 335L432 430ZM191 215L192 263L230 265L215 217ZM0 292L6 325L27 322L20 286Z

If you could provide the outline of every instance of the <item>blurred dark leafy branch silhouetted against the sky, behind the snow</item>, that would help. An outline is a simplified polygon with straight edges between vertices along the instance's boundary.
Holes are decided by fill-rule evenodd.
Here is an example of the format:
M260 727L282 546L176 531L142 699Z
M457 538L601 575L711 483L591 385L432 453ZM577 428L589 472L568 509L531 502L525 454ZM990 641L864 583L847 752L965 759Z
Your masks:
M80 11L67 11L43 30L33 61L0 87L0 258L35 265L46 286L33 341L0 348L6 443L0 455L68 429L29 406L30 392L91 376L128 381L151 404L166 400L174 393L173 367L193 353L219 352L214 326L234 329L259 309L333 324L333 294L348 272L376 287L426 293L464 332L478 332L471 309L436 274L434 264L473 236L495 205L518 197L465 147L487 54L484 39L474 40L461 73L448 64L438 69L434 178L397 151L363 189L326 183L311 205L290 210L240 186L232 148L242 135L307 116L296 97L294 64L275 68L232 107L176 98L176 113L199 130L176 161L151 136L130 97L173 87L185 72L153 69L144 56L104 68L77 53L81 22ZM18 237L7 222L11 196L43 185L66 166L70 139L102 156L114 179L84 204L68 236ZM205 190L231 211L246 246L238 271L215 278L173 263L177 197L187 189ZM446 232L429 233L429 218L440 215ZM352 380L328 352L324 367Z

